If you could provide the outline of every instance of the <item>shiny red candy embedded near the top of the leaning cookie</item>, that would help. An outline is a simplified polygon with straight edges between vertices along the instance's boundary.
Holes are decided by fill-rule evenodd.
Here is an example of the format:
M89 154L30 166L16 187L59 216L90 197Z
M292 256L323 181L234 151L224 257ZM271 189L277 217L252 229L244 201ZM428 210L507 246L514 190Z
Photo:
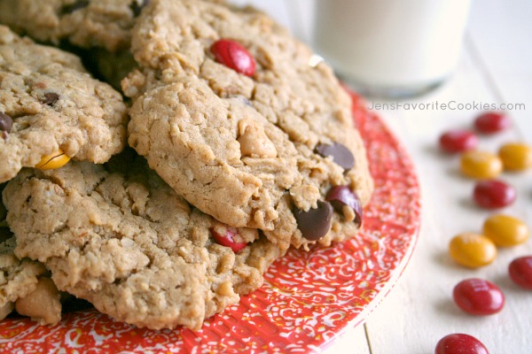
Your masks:
M218 63L230 67L237 73L253 76L254 58L239 42L220 39L211 45L210 51Z

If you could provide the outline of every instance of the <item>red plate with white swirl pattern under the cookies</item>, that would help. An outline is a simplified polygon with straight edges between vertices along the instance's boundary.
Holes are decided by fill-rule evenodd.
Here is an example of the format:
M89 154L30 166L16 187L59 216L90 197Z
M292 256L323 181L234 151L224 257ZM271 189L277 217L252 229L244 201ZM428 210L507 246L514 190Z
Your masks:
M364 321L411 256L420 193L403 147L360 97L353 95L353 103L376 187L359 235L328 249L289 251L270 267L261 289L195 333L138 329L96 311L74 312L55 327L4 319L1 352L317 352Z

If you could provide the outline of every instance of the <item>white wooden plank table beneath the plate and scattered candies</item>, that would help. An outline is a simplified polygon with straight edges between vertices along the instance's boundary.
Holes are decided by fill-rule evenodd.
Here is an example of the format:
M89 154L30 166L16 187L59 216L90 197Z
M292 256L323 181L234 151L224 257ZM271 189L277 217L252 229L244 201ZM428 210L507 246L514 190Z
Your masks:
M318 0L325 1L325 0ZM310 42L310 0L235 0L254 4ZM504 134L481 138L481 149L496 152L503 142L532 144L532 2L528 0L474 0L465 48L458 70L440 89L411 103L456 101L470 104L524 104L508 111L513 126ZM364 325L348 330L326 353L429 354L436 342L451 333L476 336L491 354L532 353L532 291L510 281L507 266L532 254L532 241L499 249L489 266L469 270L457 266L447 252L453 235L481 231L489 212L473 205L473 181L458 173L458 158L442 155L438 136L453 127L470 127L475 110L379 111L410 152L422 189L422 227L411 262L394 289ZM501 212L532 227L532 171L505 173L518 189L515 204ZM487 317L465 314L453 303L458 281L481 277L505 292L502 312Z

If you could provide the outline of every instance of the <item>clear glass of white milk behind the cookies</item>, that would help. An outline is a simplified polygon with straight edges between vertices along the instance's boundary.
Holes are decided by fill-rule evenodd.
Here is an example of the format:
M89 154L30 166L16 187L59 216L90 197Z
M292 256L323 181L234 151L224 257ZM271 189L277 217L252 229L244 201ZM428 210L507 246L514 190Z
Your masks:
M317 0L313 44L369 96L418 96L458 63L470 0Z

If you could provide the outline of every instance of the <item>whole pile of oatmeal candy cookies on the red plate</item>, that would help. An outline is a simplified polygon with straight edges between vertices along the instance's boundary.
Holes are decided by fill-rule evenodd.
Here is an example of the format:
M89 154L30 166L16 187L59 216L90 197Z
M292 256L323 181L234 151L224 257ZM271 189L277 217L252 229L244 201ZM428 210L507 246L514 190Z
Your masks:
M289 247L361 227L372 179L350 98L262 12L0 0L0 21L48 43L0 28L0 314L55 324L68 293L199 329ZM32 296L56 310L25 312Z

